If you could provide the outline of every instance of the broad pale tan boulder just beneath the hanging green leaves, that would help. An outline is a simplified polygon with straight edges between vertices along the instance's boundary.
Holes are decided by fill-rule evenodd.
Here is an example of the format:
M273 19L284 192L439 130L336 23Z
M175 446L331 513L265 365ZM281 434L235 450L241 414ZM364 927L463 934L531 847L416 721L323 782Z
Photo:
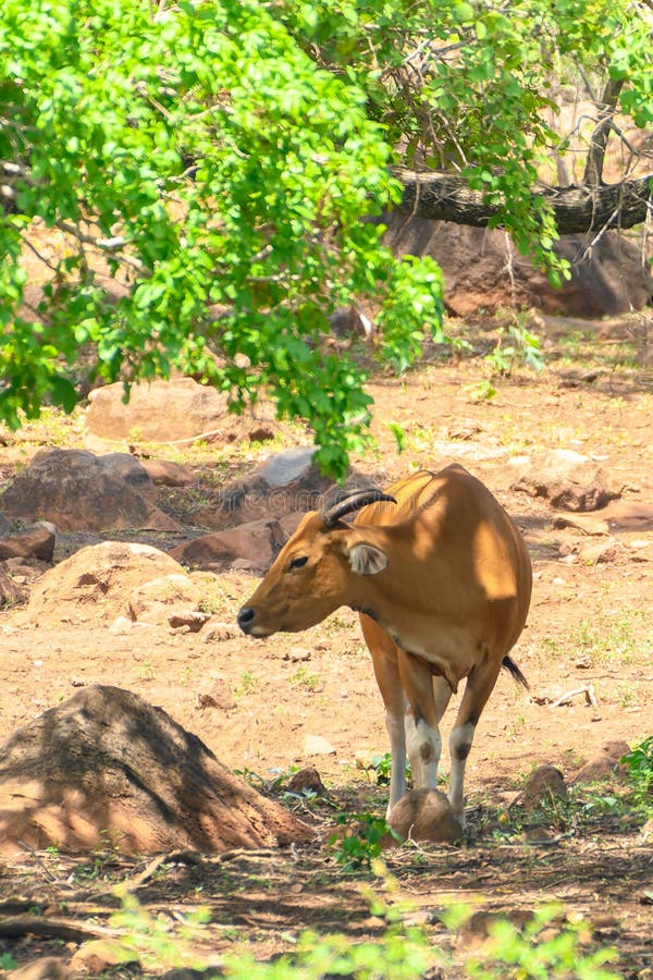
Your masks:
M122 383L89 392L86 412L88 431L103 440L144 442L234 442L237 439L270 439L270 418L252 419L230 413L225 394L192 378L133 384L130 401L123 401Z

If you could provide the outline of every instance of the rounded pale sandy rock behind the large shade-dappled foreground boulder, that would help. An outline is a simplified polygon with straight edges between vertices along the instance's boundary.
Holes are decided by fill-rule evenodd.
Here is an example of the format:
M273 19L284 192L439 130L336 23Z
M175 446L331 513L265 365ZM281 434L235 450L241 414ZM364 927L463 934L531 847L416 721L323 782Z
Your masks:
M24 616L36 623L112 621L130 615L135 589L168 575L187 577L174 559L149 544L124 541L90 544L35 583ZM168 607L167 617L170 612Z

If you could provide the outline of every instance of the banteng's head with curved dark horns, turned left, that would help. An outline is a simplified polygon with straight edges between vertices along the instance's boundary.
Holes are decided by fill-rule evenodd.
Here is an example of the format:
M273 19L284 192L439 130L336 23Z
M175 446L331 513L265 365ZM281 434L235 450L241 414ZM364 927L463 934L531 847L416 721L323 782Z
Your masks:
M357 490L323 511L311 511L286 541L258 589L238 612L238 625L251 636L297 633L321 623L340 605L357 602L362 576L387 564L365 527L353 527L346 514L379 501L381 490Z

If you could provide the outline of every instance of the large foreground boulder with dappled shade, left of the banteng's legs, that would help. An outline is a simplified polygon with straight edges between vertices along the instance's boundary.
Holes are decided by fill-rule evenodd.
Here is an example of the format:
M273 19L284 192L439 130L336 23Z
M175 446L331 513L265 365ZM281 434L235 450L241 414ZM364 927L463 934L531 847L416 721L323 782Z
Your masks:
M2 855L108 843L123 854L211 853L311 835L164 711L118 687L78 691L0 747Z

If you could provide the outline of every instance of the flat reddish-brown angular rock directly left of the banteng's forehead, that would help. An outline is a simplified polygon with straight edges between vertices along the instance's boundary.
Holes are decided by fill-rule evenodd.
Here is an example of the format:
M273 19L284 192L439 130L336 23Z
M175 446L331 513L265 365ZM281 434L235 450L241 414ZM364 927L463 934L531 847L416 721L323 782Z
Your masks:
M285 540L286 535L278 520L250 520L231 530L214 531L180 544L170 554L177 562L199 568L224 567L241 560L251 569L264 571Z

